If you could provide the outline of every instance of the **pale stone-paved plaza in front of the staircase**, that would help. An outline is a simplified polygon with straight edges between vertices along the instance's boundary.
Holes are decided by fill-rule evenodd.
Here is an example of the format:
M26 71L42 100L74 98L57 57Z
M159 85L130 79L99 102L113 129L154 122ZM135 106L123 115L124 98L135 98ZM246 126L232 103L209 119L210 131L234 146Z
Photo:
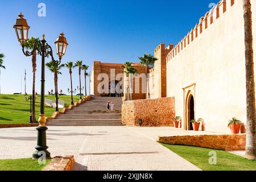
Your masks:
M52 157L75 155L76 170L200 170L155 142L157 136L186 135L171 127L49 126ZM0 129L0 159L29 158L35 127Z

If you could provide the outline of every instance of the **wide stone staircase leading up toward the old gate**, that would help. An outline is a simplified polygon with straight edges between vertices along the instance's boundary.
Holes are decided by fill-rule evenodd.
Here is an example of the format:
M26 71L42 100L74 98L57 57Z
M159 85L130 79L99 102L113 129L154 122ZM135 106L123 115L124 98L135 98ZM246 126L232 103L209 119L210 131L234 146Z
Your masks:
M113 101L114 110L107 109ZM122 98L92 97L90 101L47 121L47 126L122 126Z

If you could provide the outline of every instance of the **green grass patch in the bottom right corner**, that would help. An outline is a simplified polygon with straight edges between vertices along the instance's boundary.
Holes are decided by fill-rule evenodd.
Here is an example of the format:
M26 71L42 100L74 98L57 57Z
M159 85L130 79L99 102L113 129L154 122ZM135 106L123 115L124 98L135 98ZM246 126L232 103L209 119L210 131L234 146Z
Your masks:
M174 146L170 144L163 144L163 146L204 171L256 171L256 161L247 160L226 151L191 146ZM209 164L210 151L217 153L216 165Z

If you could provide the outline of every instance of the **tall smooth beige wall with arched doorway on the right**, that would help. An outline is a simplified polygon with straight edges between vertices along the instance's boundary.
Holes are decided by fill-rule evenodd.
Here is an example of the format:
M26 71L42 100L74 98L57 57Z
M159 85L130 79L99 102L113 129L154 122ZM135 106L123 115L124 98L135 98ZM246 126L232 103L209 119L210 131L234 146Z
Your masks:
M204 118L205 130L223 133L229 133L232 117L246 122L243 7L241 0L231 2L222 1L200 19L166 59L167 97L175 97L176 115L185 120L184 100L191 91L195 117ZM256 38L256 1L251 3Z

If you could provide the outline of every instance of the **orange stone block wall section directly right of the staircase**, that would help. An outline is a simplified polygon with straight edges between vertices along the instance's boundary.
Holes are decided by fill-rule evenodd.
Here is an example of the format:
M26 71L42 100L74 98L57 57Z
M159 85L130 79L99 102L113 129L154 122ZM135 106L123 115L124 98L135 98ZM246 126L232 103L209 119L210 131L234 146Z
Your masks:
M125 101L122 104L122 123L126 126L174 126L175 99L159 98L154 100Z

